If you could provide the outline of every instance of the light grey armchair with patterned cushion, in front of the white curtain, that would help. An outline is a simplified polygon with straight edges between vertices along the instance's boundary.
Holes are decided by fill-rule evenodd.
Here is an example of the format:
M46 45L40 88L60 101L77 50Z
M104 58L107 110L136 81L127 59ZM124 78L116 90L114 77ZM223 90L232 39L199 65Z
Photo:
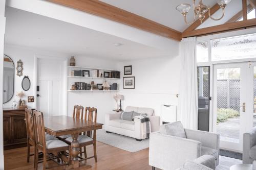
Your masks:
M183 138L164 134L162 126L161 132L152 133L150 136L149 164L152 167L177 169L186 160L194 160L202 155L214 156L216 165L219 164L218 134L184 129L186 138Z

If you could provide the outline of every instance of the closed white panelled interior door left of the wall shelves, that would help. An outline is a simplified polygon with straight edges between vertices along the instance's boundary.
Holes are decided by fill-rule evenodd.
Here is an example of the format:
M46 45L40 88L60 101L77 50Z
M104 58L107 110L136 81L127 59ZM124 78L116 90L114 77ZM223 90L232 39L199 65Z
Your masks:
M37 110L45 115L61 115L65 104L63 94L63 62L51 59L37 60Z

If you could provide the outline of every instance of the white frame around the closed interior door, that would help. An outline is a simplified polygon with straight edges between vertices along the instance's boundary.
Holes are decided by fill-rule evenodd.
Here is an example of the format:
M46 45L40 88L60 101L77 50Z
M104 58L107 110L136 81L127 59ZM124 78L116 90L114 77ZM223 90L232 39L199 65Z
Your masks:
M64 113L62 113L62 115L68 115L68 58L60 58L60 57L52 57L52 56L45 56L45 55L35 55L34 56L34 94L35 94L35 99L34 99L34 108L36 108L36 110L38 110L37 108L37 72L38 72L38 68L37 68L37 64L38 64L38 59L48 59L50 60L59 60L60 62L62 62L63 64L63 70L65 71L63 74L63 84L64 84L64 91L63 95L65 96L64 100L63 100L63 107L64 107Z

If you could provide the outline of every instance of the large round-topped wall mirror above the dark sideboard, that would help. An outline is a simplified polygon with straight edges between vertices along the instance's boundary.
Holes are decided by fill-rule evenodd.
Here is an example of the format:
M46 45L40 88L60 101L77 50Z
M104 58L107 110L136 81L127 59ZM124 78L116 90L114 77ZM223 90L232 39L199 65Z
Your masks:
M14 93L14 63L10 57L4 55L3 103L12 99Z

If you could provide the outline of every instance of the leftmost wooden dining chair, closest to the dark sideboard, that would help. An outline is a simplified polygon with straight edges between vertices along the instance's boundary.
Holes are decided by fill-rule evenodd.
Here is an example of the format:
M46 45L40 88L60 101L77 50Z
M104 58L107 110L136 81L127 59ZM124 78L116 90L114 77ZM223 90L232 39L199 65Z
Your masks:
M35 167L35 154L30 154L30 147L35 147L35 126L34 126L34 114L32 109L25 109L26 117L26 129L27 129L27 162L30 160L30 156L34 156L34 167ZM56 137L45 134L46 140L54 140Z

